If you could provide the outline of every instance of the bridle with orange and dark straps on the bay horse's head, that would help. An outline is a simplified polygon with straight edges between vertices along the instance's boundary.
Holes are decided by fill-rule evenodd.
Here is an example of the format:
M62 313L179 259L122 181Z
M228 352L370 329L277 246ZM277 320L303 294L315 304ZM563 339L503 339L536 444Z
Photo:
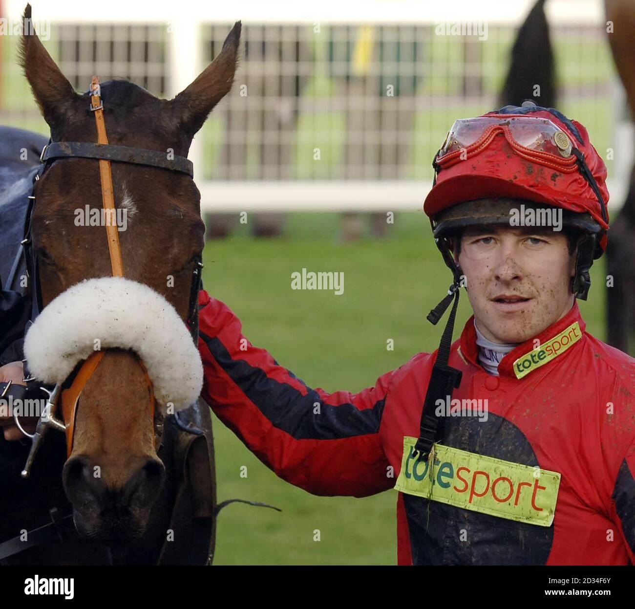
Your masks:
M104 104L101 99L101 88L97 76L93 76L90 84L90 110L95 114L95 123L97 125L97 143L92 142L51 142L44 146L40 156L41 165L33 179L33 189L29 196L29 209L25 220L24 239L22 247L18 250L16 262L13 264L12 271L17 268L20 257L24 256L27 266L27 277L31 282L31 322L33 322L42 309L42 296L39 289L38 272L37 272L37 256L32 247L31 241L31 224L32 216L35 208L35 190L36 184L41 176L46 172L50 165L65 158L90 158L99 161L100 187L102 191L102 205L107 212L116 210L114 204L114 192L112 186L111 162L129 163L133 165L148 165L150 167L158 167L174 172L189 175L193 177L192 162L183 156L170 155L160 153L154 150L146 150L141 148L133 148L127 146L114 146L108 143L104 121ZM115 217L114 213L105 213L105 228L108 240L108 249L110 255L110 266L112 269L112 277L124 277L123 257L121 255L121 247L119 245L119 232L116 222L111 219ZM190 327L190 334L194 345L198 341L198 292L201 287L201 271L203 263L199 254L195 259L194 270L192 271L192 284L189 297L189 313L187 324ZM13 273L12 273L13 274ZM86 360L78 364L76 369L65 381L65 383L55 385L52 389L41 387L43 392L48 395L46 404L41 412L37 427L34 434L27 433L18 416L15 416L15 422L23 434L31 438L31 448L27 456L27 462L22 470L22 477L29 477L30 469L34 463L44 435L50 428L64 431L66 434L67 456L72 452L74 425L79 405L81 392L88 380L97 369L100 361L104 357L103 351L96 351ZM144 380L149 389L150 394L150 420L154 427L155 448L158 449L163 437L163 414L161 409L156 408L156 400L152 390L152 381L150 380L144 363L137 357L137 361L144 371ZM25 377L25 381L33 381L33 378ZM56 418L58 404L62 404L63 420Z

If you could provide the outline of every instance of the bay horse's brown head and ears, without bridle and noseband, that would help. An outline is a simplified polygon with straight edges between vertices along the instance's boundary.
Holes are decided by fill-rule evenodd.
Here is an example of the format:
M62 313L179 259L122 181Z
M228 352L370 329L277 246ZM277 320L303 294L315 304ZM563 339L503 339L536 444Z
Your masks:
M109 144L187 156L192 137L232 86L240 29L234 25L218 57L172 100L157 99L126 81L103 83ZM97 142L88 93L74 92L32 29L25 32L20 51L53 142ZM104 226L77 222L78 209L100 207L99 162L58 160L37 182L32 247L44 307L82 280L111 275ZM186 174L159 167L111 165L114 202L126 210L126 229L118 233L124 276L158 292L185 324L204 243L196 184ZM138 324L144 323L143 313L139 305ZM81 533L105 540L142 535L165 476L156 454L151 400L137 354L125 346L105 348L81 393L64 468L64 488Z

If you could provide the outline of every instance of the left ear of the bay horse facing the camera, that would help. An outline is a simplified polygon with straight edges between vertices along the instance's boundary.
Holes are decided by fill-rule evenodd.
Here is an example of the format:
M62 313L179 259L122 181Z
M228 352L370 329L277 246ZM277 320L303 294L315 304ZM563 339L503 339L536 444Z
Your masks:
M23 32L20 40L20 65L24 70L31 90L44 120L50 127L69 109L71 102L79 97L72 85L60 72L57 64L44 48L31 20L31 5L27 4L22 16Z

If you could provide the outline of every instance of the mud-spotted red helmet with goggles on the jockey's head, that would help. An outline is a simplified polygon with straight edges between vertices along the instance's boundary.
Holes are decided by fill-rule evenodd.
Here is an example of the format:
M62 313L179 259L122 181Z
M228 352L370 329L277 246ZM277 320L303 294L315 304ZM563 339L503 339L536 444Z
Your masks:
M572 290L586 298L589 268L606 249L608 190L606 166L583 125L529 100L505 106L455 121L432 166L434 185L424 211L455 275L446 236L471 224L509 225L509 214L495 203L520 200L563 209L565 226L585 233Z

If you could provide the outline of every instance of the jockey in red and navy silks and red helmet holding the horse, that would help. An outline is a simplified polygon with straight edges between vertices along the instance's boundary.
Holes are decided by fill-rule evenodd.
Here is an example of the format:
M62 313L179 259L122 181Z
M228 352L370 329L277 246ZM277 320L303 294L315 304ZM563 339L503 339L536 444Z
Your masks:
M580 123L525 102L456 121L433 165L424 210L453 283L429 319L454 301L439 349L327 393L201 291L203 398L310 493L396 488L401 565L634 563L635 360L576 302L606 247L603 161ZM451 343L460 287L474 315Z

